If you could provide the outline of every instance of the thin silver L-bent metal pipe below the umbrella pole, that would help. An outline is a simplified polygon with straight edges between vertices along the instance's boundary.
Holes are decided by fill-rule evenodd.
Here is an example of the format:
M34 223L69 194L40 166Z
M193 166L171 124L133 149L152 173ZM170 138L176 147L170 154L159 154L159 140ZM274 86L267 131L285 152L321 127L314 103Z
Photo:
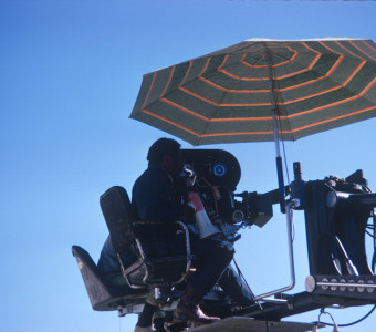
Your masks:
M293 251L293 243L292 243L292 218L291 218L291 211L294 206L296 207L299 206L297 199L292 199L286 206L286 209L288 209L286 210L286 226L288 226L288 245L289 245L289 263L290 263L291 282L286 287L283 287L278 290L255 297L257 300L262 300L264 298L289 291L293 289L295 286L295 267L294 267L294 251Z

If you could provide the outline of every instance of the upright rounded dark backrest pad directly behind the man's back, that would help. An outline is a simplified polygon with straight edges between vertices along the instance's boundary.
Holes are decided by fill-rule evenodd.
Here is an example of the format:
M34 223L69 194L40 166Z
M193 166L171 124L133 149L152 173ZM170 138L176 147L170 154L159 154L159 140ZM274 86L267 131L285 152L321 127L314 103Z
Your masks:
M132 205L127 191L114 186L101 196L100 205L116 252L125 251L134 243Z

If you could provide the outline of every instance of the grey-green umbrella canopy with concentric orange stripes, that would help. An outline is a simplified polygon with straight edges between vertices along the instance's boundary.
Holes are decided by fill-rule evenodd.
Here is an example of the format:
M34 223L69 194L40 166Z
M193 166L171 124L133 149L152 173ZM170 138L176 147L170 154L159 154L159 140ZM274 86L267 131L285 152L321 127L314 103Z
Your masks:
M294 141L376 116L376 44L248 40L144 76L130 114L192 145Z

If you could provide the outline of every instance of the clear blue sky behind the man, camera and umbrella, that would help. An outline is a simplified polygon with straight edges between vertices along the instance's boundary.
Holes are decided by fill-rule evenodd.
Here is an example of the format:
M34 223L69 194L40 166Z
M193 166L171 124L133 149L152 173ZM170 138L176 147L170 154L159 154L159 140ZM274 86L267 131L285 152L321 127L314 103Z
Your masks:
M257 37L376 41L375 13L374 1L2 0L0 331L133 331L134 315L91 309L71 246L97 260L107 236L100 195L130 190L149 145L168 136L128 118L143 74ZM376 190L375 127L369 120L286 143L288 165L300 160L306 180L363 168ZM239 191L275 188L273 143L212 147L239 159ZM284 216L274 214L237 245L255 294L290 282ZM295 224L299 292L309 274L302 212ZM348 323L369 309L330 312ZM375 324L376 313L342 331Z

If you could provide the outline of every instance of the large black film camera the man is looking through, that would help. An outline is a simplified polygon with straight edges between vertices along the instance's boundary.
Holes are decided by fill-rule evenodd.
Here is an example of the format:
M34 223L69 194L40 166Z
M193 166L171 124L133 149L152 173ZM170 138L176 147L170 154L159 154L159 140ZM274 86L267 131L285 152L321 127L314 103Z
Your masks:
M241 169L238 159L222 149L181 149L182 162L190 174L182 174L187 185L196 176L195 189L200 194L210 220L216 225L253 224L262 227L272 216L271 195L243 191L237 194Z

